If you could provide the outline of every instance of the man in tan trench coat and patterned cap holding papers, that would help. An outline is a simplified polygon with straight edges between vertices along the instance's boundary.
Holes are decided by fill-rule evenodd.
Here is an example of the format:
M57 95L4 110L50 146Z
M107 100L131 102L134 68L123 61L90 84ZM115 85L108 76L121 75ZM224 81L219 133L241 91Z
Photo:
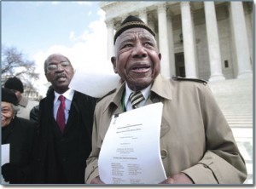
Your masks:
M123 21L114 43L113 70L125 82L96 106L85 182L103 184L98 156L111 117L131 110L131 92L141 91L144 100L137 106L155 102L164 105L160 153L167 179L162 184L243 183L247 177L244 160L207 83L162 77L154 31L136 17L129 16Z

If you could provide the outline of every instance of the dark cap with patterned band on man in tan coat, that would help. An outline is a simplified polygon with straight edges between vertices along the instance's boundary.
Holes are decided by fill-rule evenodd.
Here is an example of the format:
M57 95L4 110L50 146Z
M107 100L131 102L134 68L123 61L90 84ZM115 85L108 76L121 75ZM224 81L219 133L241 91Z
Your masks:
M116 31L116 33L114 34L113 37L113 44L115 43L117 37L119 37L119 35L121 35L122 32L124 32L125 30L128 30L130 28L133 27L142 27L146 30L148 30L153 36L155 36L154 31L148 26L146 25L143 20L140 20L139 18L129 15L122 23L121 26L119 27L119 29Z

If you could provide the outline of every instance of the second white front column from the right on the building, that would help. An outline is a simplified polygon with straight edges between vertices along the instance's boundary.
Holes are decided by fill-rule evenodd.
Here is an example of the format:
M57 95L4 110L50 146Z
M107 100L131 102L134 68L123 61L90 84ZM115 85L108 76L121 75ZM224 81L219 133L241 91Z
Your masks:
M221 56L218 43L218 25L214 2L204 2L207 26L208 52L210 58L211 77L209 81L224 80Z

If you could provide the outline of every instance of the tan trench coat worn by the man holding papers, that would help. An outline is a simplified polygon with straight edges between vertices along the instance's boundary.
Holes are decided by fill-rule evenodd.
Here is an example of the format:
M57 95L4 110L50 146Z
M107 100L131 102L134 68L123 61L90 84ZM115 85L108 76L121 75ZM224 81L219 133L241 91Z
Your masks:
M86 183L99 175L97 160L102 141L112 115L123 112L124 90L125 83L96 106ZM159 101L164 105L160 153L167 176L183 172L195 184L240 184L246 179L244 160L207 83L176 81L159 75L146 104Z

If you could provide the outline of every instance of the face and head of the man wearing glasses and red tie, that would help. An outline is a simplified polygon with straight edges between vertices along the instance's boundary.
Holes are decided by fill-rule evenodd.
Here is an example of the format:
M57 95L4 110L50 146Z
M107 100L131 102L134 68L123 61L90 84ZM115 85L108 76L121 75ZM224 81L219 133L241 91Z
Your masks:
M66 92L74 74L69 60L61 54L52 54L45 64L47 67L45 76L55 91L60 94Z

